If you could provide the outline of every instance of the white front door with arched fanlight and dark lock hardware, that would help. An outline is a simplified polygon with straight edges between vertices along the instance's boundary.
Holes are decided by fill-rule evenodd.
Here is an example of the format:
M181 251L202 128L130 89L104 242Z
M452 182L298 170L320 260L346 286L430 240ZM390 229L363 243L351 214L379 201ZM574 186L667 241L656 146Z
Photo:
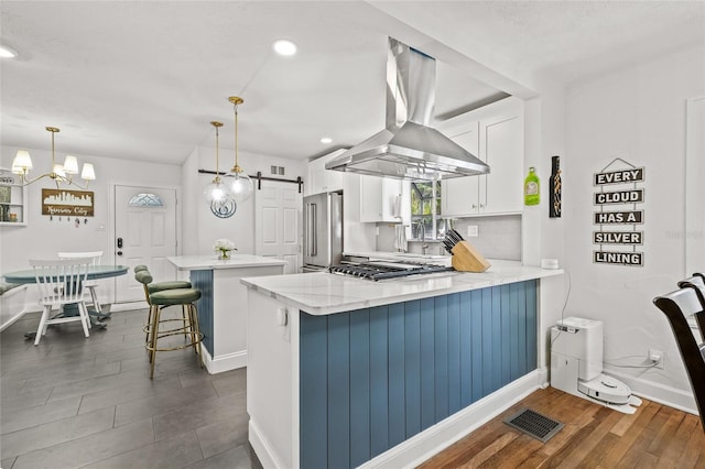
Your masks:
M129 265L116 277L116 303L144 299L142 284L132 269L144 264L156 282L176 280L176 269L166 260L176 255L176 190L115 186L115 263Z

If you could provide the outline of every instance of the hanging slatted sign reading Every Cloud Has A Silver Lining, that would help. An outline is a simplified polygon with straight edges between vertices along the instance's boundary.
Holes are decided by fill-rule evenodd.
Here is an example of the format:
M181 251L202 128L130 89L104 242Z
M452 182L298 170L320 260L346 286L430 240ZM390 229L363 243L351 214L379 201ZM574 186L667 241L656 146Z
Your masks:
M608 171L616 165L628 167ZM643 252L637 251L638 246L643 246L643 231L637 229L644 216L638 209L638 204L644 201L644 189L638 187L643 181L643 167L619 157L595 173L593 204L599 211L595 211L593 223L599 228L593 231L593 243L598 244L593 251L594 263L643 266Z

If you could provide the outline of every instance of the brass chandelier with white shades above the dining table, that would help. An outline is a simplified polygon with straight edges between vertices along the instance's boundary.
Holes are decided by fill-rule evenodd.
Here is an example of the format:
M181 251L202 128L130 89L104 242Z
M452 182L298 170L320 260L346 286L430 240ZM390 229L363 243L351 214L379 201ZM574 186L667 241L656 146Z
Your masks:
M44 173L40 176L30 179L29 174L32 170L32 157L26 150L18 150L14 159L12 160L12 173L20 175L20 183L24 186L40 181L43 177L48 177L56 183L56 188L59 184L74 185L82 189L87 189L90 181L96 179L96 171L91 163L84 163L80 172L80 178L86 182L85 185L78 184L74 181L74 176L78 174L78 160L76 156L66 155L64 164L56 163L56 156L54 154L54 134L59 132L59 129L55 127L47 127L46 130L52 133L52 171Z

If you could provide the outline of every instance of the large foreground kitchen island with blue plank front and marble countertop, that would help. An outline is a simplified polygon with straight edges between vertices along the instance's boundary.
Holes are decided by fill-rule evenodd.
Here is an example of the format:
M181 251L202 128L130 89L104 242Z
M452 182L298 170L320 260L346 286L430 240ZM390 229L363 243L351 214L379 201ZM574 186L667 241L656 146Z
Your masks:
M262 465L414 465L538 389L540 280L562 273L242 279Z

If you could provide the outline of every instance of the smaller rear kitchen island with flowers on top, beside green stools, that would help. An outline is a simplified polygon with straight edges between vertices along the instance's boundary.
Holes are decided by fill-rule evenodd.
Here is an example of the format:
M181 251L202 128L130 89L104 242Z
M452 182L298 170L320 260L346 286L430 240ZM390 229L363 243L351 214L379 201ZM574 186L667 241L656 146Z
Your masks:
M209 373L247 366L247 290L243 276L281 275L284 261L250 254L231 254L218 260L213 255L167 258L180 271L187 271L194 288L202 292L196 303L204 335L204 363Z

